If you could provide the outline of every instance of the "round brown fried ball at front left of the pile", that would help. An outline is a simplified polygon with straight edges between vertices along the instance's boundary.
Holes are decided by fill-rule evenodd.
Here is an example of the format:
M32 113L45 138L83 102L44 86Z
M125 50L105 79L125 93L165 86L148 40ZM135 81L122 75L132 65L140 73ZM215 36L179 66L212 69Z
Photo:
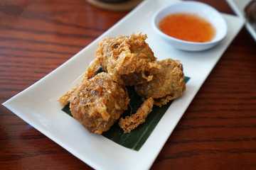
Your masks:
M82 81L68 96L73 118L96 134L109 130L129 103L126 87L114 82L105 72Z

